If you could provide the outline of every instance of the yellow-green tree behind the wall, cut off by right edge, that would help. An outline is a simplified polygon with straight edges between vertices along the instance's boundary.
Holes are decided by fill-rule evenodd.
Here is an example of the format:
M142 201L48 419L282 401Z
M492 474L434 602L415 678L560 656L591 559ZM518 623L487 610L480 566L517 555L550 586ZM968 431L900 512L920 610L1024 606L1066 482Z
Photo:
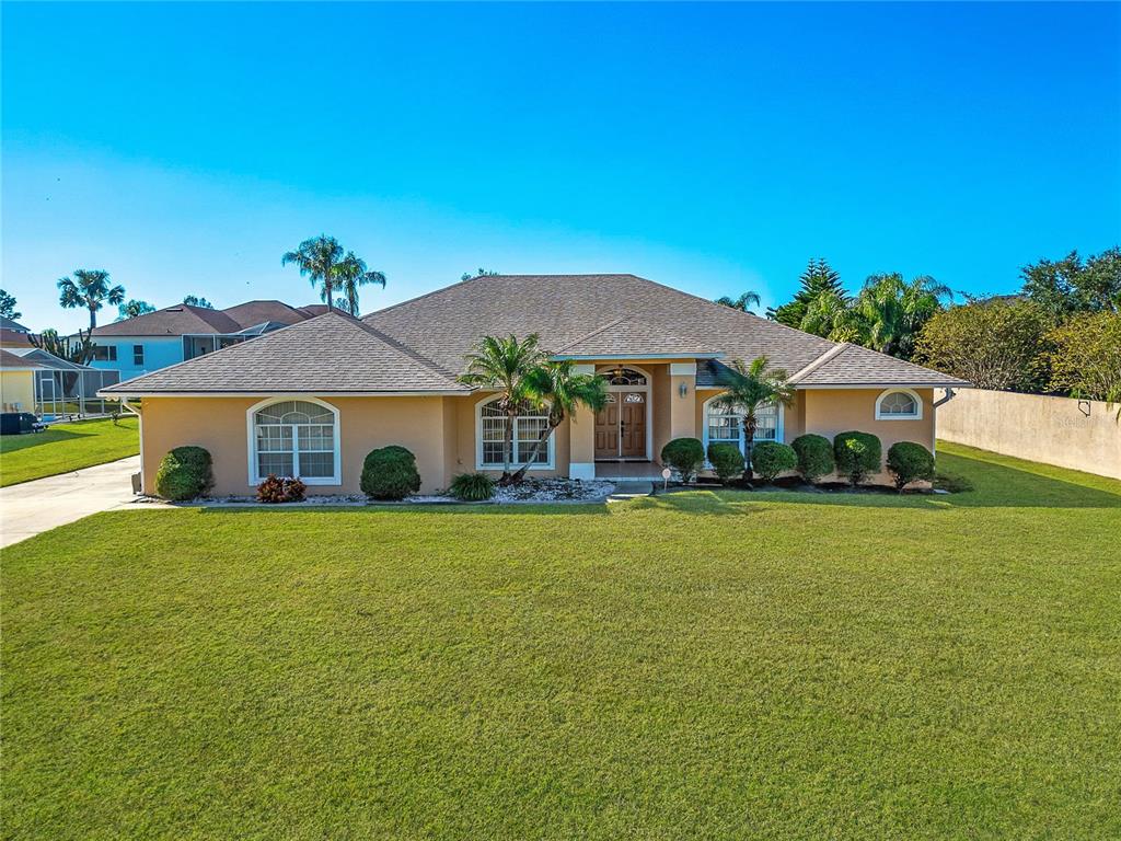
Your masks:
M1049 388L1121 403L1121 314L1082 313L1053 329Z

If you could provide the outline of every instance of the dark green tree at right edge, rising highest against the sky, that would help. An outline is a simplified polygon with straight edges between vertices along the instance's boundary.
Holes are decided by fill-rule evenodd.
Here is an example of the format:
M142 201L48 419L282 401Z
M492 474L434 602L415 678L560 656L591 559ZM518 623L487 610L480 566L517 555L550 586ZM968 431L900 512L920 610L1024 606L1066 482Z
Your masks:
M1058 323L1074 313L1121 312L1121 248L1085 262L1077 251L1062 260L1039 260L1020 270L1023 294Z

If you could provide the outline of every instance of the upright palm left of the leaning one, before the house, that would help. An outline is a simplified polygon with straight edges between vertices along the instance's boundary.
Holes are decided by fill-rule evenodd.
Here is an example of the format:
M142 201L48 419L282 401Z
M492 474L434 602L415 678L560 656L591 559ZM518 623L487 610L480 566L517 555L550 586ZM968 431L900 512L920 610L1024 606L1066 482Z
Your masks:
M507 339L483 336L475 350L466 355L467 370L460 377L460 382L498 391L499 406L506 413L502 478L499 480L503 484L510 482L513 425L522 405L531 396L529 377L547 358L540 349L537 333L531 333L525 341L518 341L512 334Z

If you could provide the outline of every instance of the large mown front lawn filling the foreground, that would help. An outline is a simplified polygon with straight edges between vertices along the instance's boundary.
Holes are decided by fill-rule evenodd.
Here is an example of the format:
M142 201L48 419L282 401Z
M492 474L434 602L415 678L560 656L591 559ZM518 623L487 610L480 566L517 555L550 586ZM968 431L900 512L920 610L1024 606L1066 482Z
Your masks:
M4 552L9 839L1121 837L1121 483L115 511Z

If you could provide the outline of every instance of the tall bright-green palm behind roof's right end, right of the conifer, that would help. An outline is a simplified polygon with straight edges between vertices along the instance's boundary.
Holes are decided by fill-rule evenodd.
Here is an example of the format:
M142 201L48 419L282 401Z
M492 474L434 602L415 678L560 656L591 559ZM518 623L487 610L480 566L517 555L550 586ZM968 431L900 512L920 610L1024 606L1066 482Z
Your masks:
M953 297L948 286L920 275L909 284L899 272L872 275L853 308L864 323L863 342L872 350L910 359L923 325L942 309L942 298Z

